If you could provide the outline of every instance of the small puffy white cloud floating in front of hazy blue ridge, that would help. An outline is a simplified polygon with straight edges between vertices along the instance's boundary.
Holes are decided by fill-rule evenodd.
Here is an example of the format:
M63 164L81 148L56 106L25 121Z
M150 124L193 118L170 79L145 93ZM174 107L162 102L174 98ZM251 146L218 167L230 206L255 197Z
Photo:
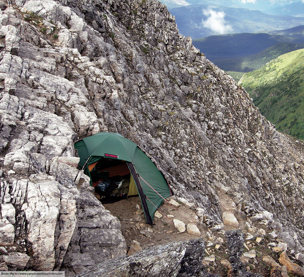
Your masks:
M206 21L202 20L202 24L204 27L211 29L213 32L217 34L227 34L232 32L232 26L226 25L224 17L224 12L216 12L211 8L203 11L204 15L208 16Z

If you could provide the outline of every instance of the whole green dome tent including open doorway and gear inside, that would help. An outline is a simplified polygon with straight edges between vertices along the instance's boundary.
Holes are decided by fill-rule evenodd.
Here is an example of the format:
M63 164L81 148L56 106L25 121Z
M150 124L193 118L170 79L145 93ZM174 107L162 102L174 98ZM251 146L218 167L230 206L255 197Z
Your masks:
M139 195L147 223L172 191L156 164L119 133L96 133L74 144L79 168L90 177L95 196L109 203Z

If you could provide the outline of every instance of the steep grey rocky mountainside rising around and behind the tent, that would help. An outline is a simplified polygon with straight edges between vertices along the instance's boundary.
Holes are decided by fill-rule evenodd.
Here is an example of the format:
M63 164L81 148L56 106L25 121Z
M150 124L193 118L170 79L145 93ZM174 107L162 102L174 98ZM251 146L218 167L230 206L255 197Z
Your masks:
M75 168L75 140L99 131L149 153L208 228L223 231L220 187L248 217L272 213L264 223L303 250L303 142L278 132L163 4L15 0L1 9L2 258L73 275L126 252L118 218Z

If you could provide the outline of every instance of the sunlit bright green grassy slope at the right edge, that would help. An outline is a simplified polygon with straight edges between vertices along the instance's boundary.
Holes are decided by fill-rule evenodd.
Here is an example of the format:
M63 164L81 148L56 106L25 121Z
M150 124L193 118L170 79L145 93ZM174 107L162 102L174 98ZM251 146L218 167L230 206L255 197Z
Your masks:
M277 128L299 139L304 138L304 49L269 62L262 69L244 74L240 83Z

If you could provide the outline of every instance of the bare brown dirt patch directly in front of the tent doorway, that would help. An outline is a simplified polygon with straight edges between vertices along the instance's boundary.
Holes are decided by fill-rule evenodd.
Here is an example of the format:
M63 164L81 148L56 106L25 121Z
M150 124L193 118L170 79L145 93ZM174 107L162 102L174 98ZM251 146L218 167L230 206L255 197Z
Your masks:
M201 237L206 237L206 228L203 228L198 224L198 218L195 215L195 211L183 204L181 204L177 210L167 203L162 204L159 207L159 210L166 217L167 215L173 215L174 217L166 218L164 215L161 218L154 217L154 225L152 226L146 223L143 213L140 215L136 214L136 211L139 210L138 207L142 209L140 198L137 196L129 197L111 204L104 204L104 207L119 219L121 231L126 239L128 247L130 247L132 240L140 242L140 246L144 249L146 247L168 242L197 238L194 235L189 235L187 231L179 233L173 224L173 219L183 221L186 226L192 221L192 223L197 225L201 231ZM149 232L148 228L153 232ZM141 234L141 232L145 232L146 235ZM147 237L147 235L150 237Z

